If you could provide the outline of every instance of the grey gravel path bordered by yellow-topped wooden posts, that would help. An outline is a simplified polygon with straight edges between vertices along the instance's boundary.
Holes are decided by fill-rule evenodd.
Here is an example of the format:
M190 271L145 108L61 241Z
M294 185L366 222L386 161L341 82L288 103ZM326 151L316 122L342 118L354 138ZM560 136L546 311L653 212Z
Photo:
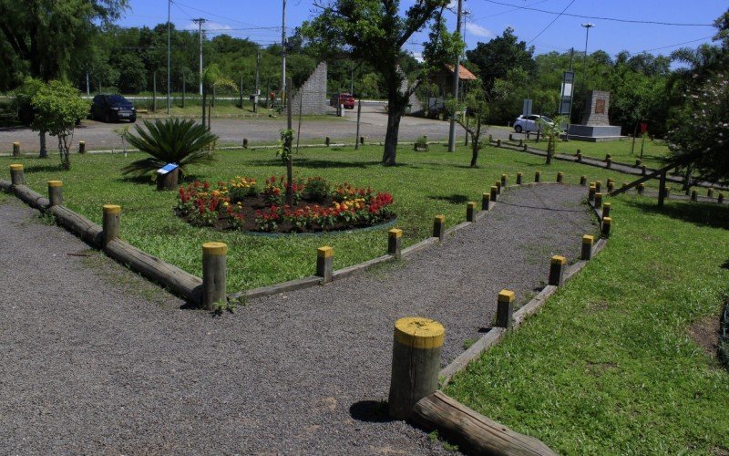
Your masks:
M509 191L484 219L405 262L253 300L181 302L37 212L0 204L0 452L437 454L385 419L392 325L445 324L445 361L498 290L524 302L551 254L594 231L584 189Z

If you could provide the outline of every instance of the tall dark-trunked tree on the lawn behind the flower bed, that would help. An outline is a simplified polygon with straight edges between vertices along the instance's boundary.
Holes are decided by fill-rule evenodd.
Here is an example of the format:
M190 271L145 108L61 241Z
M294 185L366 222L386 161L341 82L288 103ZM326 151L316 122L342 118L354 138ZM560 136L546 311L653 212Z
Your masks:
M417 83L410 84L400 69L408 39L439 15L448 0L416 0L400 16L399 0L330 0L314 4L322 13L302 26L314 46L344 49L372 65L387 93L387 131L382 162L395 165L400 119Z

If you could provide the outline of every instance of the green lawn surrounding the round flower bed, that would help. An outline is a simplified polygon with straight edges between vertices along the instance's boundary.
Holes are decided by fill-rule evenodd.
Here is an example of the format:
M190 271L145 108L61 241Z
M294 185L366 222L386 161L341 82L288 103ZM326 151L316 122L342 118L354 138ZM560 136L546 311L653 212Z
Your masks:
M576 184L580 174L590 180L613 177L620 173L574 163L556 162L551 167L544 159L511 150L487 148L480 156L480 168L467 166L470 153L459 148L448 153L446 146L432 146L430 152L399 150L395 167L379 164L381 147L305 149L295 156L294 172L303 177L321 175L329 181L349 181L356 186L373 186L376 191L391 192L395 198L397 226L404 230L403 246L430 236L433 217L446 215L447 226L463 222L466 202L480 201L481 194L507 173L513 182L517 171L524 181L542 172L542 181L554 181L557 171L565 172L565 182ZM46 181L64 181L65 202L96 223L101 222L101 206L122 206L121 236L129 243L200 276L201 247L209 241L229 245L228 290L239 291L271 285L314 273L315 251L322 245L334 247L334 268L358 264L386 251L385 229L369 232L332 233L321 236L256 236L240 232L216 232L182 222L172 213L175 192L157 192L147 181L122 179L120 169L142 157L139 153L77 155L71 159L71 171L59 171L56 156L47 160L30 157L0 158L0 169L12 162L26 165L26 181L36 192L46 193ZM259 181L281 175L284 168L273 150L225 150L219 160L190 169L195 178L227 181L236 175ZM4 179L8 179L5 171ZM585 190L587 192L587 190Z

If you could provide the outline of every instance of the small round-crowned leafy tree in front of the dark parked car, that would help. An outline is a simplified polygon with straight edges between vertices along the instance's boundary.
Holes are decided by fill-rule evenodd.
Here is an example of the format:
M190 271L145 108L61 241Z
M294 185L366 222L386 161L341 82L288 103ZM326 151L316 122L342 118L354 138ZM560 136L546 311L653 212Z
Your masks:
M61 168L70 170L69 149L74 127L79 119L86 117L88 101L78 96L76 88L54 80L36 91L31 104L36 110L31 128L58 138Z

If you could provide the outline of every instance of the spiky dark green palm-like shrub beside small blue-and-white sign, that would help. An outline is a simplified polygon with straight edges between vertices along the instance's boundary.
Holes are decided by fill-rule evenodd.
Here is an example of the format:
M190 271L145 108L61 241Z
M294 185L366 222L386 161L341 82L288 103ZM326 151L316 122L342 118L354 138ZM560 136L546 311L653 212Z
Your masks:
M151 157L129 163L121 170L122 174L142 176L159 170L167 163L177 163L180 174L184 175L187 165L215 160L210 146L218 137L194 120L145 120L144 129L139 125L135 128L137 135L128 134L128 143Z

